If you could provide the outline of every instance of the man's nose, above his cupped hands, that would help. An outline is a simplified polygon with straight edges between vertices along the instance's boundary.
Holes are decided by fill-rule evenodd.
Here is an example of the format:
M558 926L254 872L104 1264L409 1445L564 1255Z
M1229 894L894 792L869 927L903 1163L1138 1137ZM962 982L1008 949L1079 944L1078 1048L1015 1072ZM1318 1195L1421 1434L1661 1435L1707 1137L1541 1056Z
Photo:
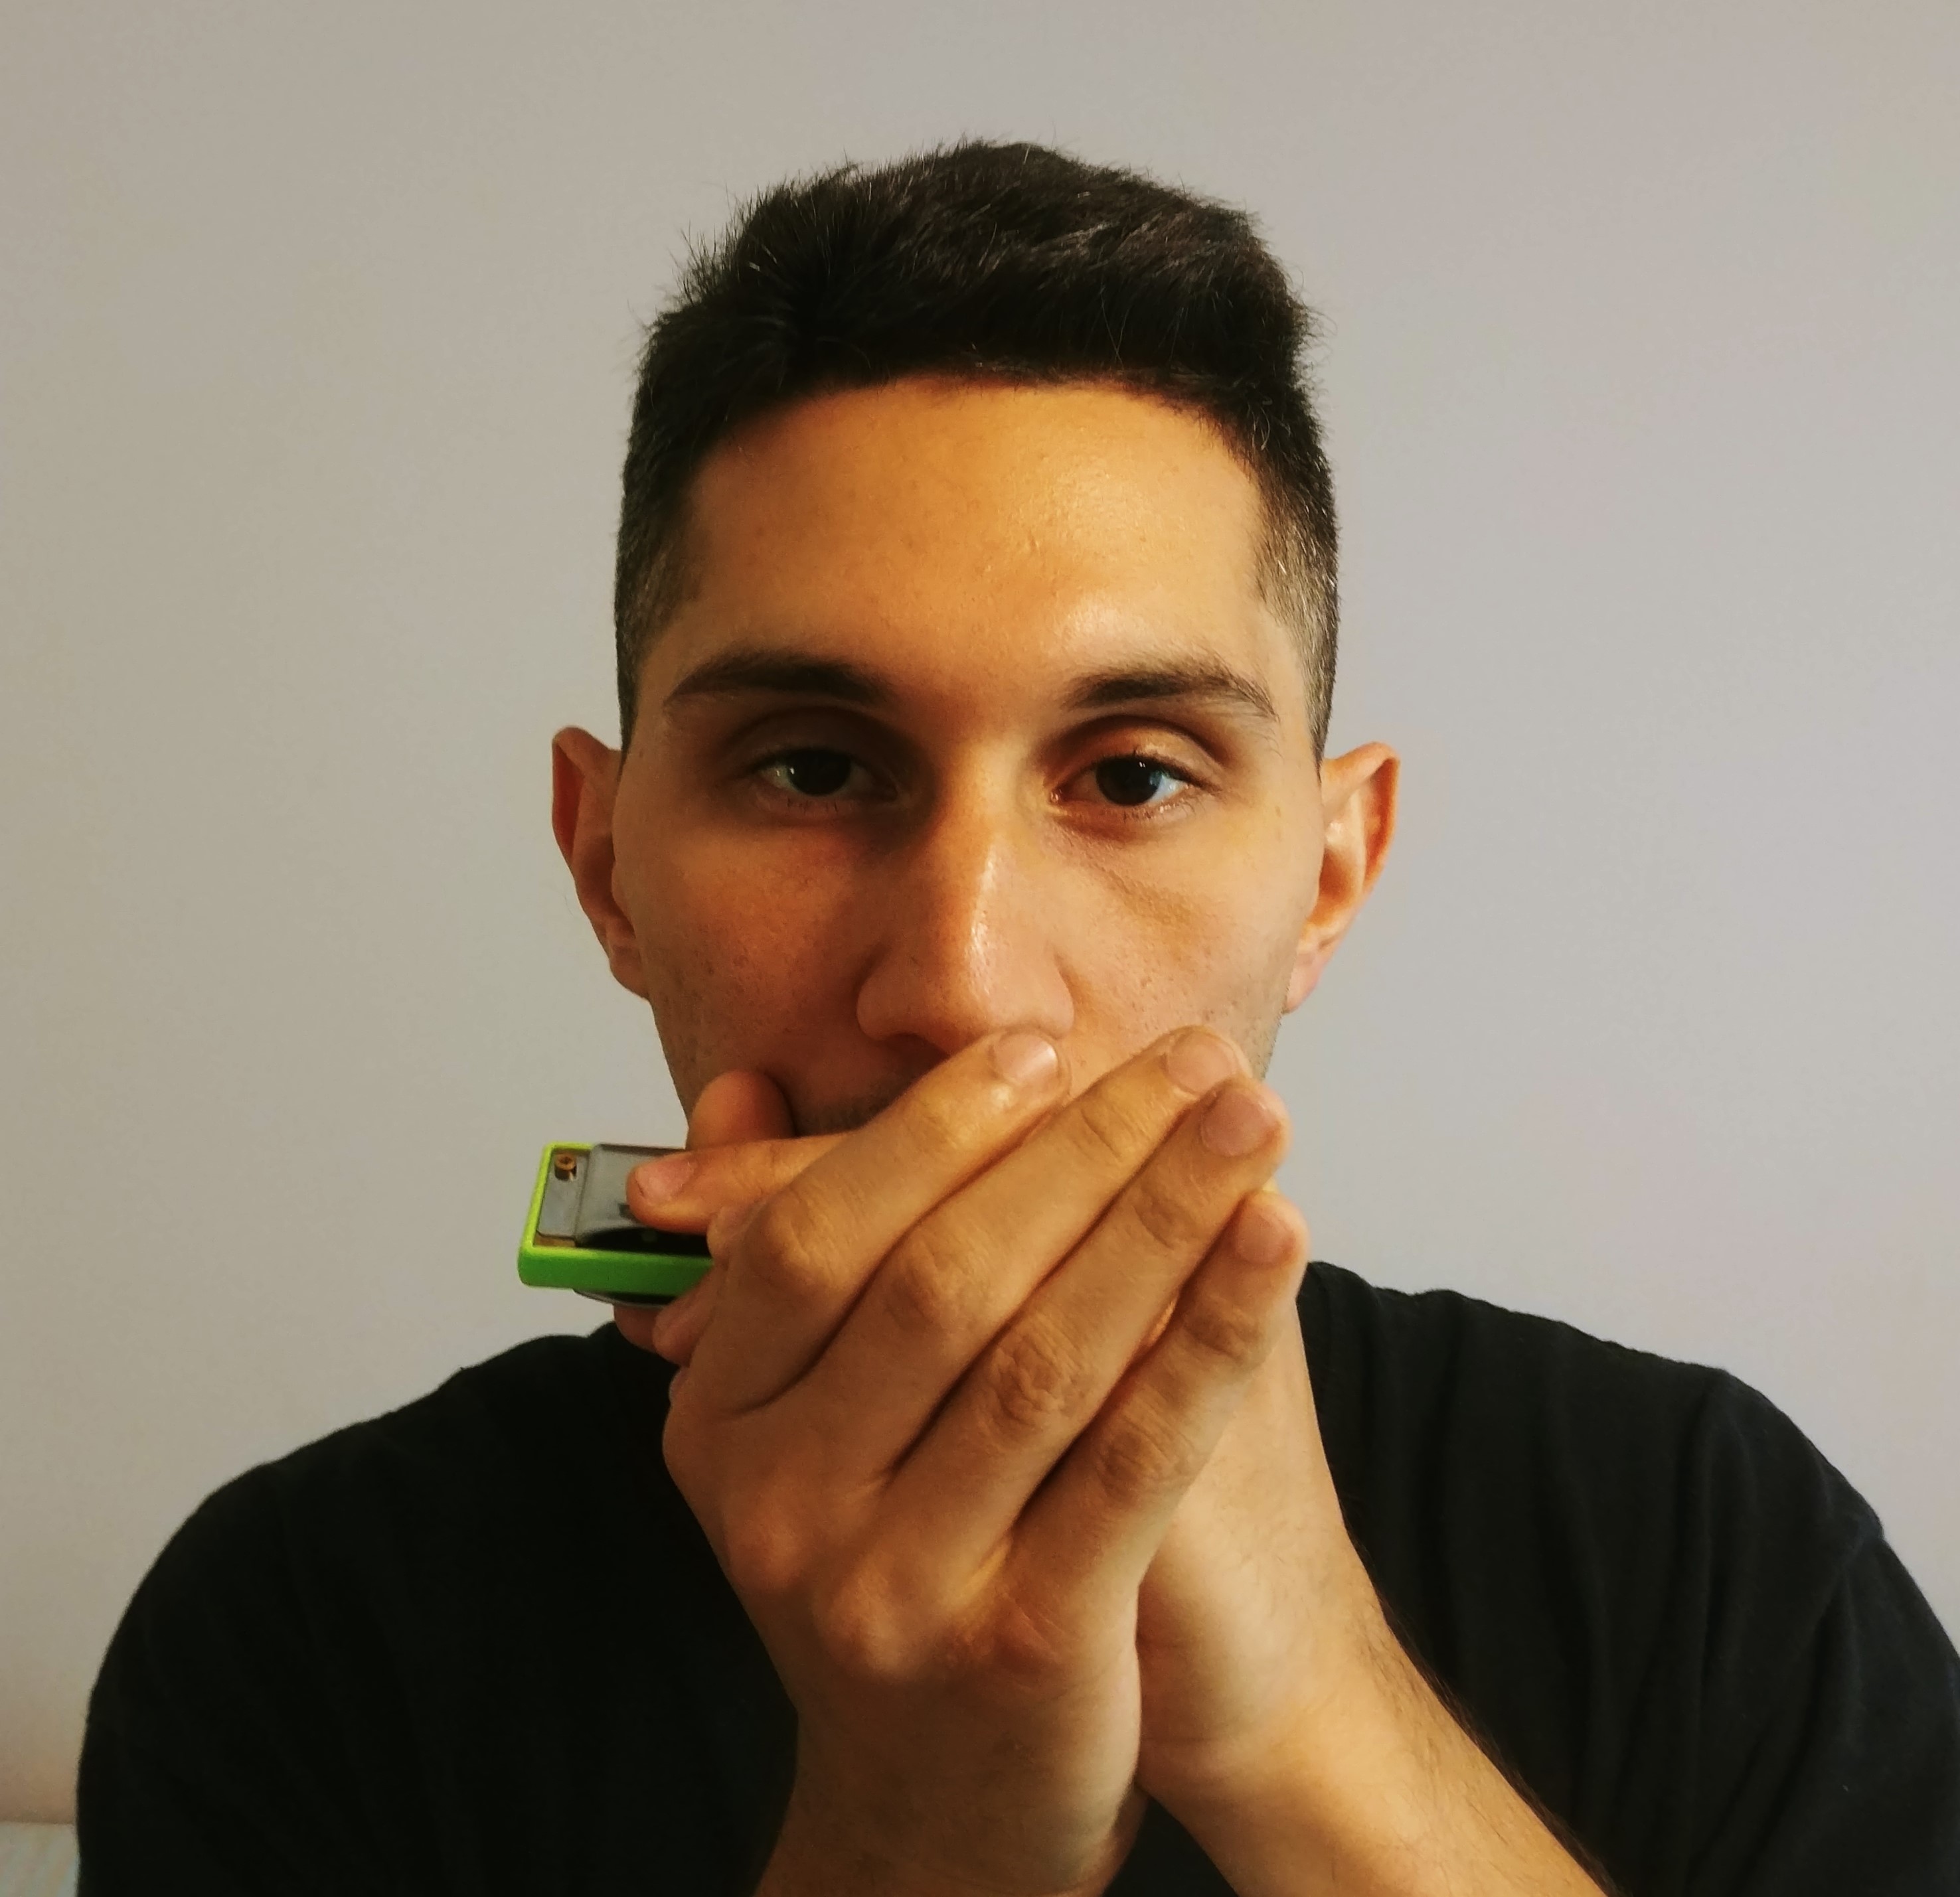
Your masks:
M980 794L941 802L892 851L858 1027L937 1056L1002 1027L1064 1037L1076 1009L1058 872L1025 813Z

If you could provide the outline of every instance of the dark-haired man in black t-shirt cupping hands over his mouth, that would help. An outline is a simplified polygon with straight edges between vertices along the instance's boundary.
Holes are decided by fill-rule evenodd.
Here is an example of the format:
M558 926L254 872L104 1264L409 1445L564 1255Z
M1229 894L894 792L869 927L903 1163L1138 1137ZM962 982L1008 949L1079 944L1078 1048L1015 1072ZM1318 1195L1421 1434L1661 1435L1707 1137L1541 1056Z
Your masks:
M1305 335L1241 216L1033 147L696 265L555 827L713 1270L206 1503L84 1887L1960 1889L1960 1662L1815 1450L1270 1190L1396 813Z

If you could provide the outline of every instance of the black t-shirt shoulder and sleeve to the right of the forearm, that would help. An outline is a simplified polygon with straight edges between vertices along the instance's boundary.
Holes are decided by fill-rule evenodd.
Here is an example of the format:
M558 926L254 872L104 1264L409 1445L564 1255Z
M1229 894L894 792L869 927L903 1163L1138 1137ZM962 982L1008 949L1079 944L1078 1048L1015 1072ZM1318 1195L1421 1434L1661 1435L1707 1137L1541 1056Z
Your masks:
M1321 1264L1301 1327L1390 1617L1627 1887L1944 1887L1915 1879L1960 1868L1960 1662L1776 1405Z

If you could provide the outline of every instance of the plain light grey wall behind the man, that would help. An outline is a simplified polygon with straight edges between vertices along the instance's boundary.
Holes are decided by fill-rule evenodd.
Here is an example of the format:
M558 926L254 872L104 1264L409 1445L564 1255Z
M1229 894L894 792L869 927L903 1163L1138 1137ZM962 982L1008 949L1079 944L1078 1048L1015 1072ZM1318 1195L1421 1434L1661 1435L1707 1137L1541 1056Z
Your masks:
M1329 319L1407 803L1276 1062L1317 1250L1731 1366L1960 1625L1956 98L1944 0L10 0L0 1815L208 1489L598 1319L512 1254L678 1133L547 833L637 325L962 131Z

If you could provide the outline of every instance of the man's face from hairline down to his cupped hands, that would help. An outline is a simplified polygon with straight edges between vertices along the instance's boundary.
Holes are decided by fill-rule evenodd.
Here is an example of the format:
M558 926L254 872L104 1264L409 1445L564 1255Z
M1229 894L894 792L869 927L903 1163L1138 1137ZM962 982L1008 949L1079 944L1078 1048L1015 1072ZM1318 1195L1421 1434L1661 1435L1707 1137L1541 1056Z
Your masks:
M561 841L566 798L582 839L610 802L610 888L566 851L682 1101L753 1068L833 1131L1007 1025L1076 1088L1188 1023L1262 1068L1386 815L1329 907L1260 533L1203 421L1088 384L906 380L717 449L615 782L559 747Z

